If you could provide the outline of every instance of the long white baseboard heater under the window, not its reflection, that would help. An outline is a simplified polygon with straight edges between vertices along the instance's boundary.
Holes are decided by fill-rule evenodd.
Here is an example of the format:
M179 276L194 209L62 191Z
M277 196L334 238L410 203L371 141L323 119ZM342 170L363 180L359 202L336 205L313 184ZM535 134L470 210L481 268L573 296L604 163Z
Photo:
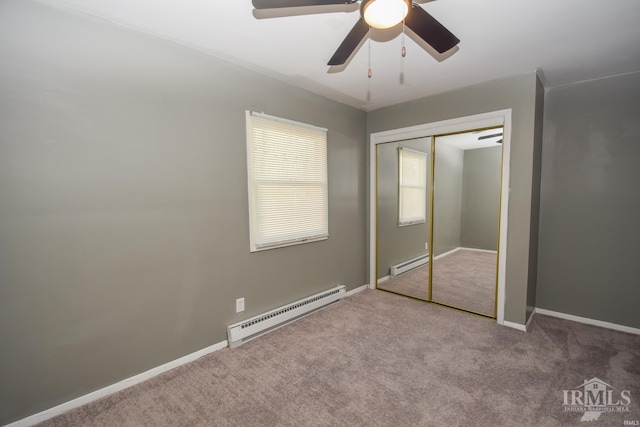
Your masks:
M346 294L344 285L292 302L275 310L227 326L229 347L237 347L253 338L305 316L328 304L338 301Z

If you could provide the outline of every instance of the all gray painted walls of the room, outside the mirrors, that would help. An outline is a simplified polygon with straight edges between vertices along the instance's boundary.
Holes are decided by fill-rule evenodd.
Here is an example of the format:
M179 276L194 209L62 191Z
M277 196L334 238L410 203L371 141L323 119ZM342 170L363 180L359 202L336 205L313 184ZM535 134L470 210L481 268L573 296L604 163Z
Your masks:
M364 284L365 135L504 108L505 319L537 305L640 327L638 99L638 73L546 94L528 73L365 114L0 2L0 424L219 342L265 309ZM329 128L329 240L249 253L246 109Z

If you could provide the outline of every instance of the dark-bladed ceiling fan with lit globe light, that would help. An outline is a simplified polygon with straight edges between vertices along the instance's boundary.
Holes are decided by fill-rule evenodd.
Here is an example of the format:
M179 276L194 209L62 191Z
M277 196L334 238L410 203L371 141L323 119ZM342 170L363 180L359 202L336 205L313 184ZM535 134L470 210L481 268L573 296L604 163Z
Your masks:
M357 3L358 0L252 0L252 2L257 10L262 10L328 5L348 6ZM444 53L460 42L456 36L412 0L362 0L358 22L349 31L327 65L343 65L367 36L370 27L391 28L403 20L406 27L438 53Z

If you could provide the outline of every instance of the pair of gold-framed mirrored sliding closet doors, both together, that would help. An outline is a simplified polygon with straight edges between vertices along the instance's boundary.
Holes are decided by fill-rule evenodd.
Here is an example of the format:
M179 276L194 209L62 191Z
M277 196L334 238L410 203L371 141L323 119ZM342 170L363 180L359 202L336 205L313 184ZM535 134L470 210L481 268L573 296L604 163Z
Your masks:
M496 316L502 128L378 144L377 287Z

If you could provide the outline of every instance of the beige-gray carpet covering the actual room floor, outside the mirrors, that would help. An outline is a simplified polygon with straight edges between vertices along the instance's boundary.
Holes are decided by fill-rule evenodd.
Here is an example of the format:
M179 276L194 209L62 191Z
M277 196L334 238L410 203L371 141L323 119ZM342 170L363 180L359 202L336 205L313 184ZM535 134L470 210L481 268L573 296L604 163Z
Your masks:
M563 411L593 377L629 412ZM525 333L366 290L44 425L622 426L639 404L638 335L540 315Z

